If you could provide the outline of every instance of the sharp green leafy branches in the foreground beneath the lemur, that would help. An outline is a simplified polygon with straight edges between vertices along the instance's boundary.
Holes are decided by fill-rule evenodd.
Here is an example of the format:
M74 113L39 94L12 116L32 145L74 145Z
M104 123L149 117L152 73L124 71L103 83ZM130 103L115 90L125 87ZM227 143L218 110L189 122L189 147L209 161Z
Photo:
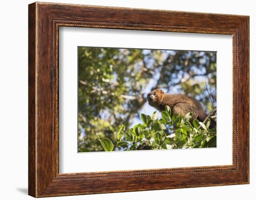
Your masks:
M160 120L157 112L152 116L141 114L142 123L126 132L125 126L121 125L115 133L118 138L115 145L105 137L100 139L102 147L105 151L112 151L114 147L125 151L216 147L216 128L209 129L209 118L204 122L197 119L191 121L191 113L170 117L171 110L168 106L161 114Z

